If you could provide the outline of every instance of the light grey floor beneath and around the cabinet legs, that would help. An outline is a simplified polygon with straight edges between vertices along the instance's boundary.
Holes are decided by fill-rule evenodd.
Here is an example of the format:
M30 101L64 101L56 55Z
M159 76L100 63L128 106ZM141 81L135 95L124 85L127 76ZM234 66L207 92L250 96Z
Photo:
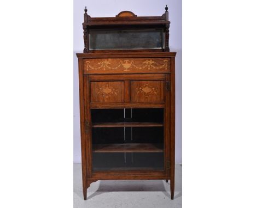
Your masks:
M82 168L74 163L74 208L165 208L182 207L182 166L175 167L174 200L170 197L170 180L97 181L87 189L83 199Z

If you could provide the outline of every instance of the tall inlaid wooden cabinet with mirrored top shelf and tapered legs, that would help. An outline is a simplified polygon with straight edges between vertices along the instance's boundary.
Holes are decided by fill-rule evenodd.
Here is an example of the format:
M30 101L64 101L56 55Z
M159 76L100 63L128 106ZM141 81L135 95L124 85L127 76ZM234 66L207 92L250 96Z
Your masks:
M79 64L83 191L97 180L170 180L174 195L175 56L162 16L84 14Z

